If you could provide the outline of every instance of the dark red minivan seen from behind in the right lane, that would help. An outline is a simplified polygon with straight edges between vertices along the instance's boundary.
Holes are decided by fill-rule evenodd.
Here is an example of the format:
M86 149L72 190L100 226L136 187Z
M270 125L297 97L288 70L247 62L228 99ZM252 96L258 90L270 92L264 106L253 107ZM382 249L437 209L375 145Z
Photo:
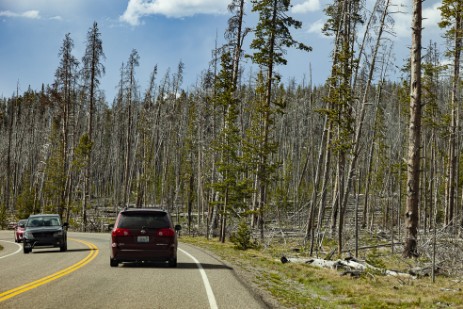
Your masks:
M177 266L177 231L167 211L128 208L121 211L111 231L110 265L122 262L168 262Z

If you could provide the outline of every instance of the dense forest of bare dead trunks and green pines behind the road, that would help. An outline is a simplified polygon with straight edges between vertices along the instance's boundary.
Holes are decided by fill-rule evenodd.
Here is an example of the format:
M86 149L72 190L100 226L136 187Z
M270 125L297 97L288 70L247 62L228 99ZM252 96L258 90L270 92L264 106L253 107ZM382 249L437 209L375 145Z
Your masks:
M406 257L436 244L441 260L461 251L463 3L442 2L439 50L421 46L413 1L410 61L389 80L391 2L333 1L330 77L314 86L277 71L289 48L311 51L291 36L302 23L290 1L250 2L257 24L245 27L245 1L230 0L227 43L189 91L181 61L165 73L154 65L140 89L133 49L108 102L98 24L81 58L67 34L53 84L0 98L2 227L51 212L101 231L123 207L163 207L187 233L227 241L244 228L261 244L291 235L311 255L328 240L339 254L372 241ZM255 74L243 74L244 57Z

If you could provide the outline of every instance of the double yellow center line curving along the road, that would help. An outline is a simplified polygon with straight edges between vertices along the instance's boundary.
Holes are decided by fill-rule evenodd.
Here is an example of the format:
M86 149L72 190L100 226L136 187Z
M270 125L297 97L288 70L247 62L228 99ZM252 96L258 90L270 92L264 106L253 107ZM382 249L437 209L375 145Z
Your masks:
M0 293L0 302L2 302L4 300L7 300L9 298L12 298L12 297L14 297L16 295L22 294L24 292L27 292L29 290L35 289L35 288L37 288L37 287L39 287L41 285L44 285L44 284L46 284L48 282L51 282L51 281L56 280L58 278L61 278L63 276L66 276L66 275L78 270L79 268L85 266L86 264L90 263L98 255L98 247L95 246L94 244L92 244L91 242L83 241L83 240L80 240L80 239L71 239L71 240L80 242L80 243L86 245L87 247L89 247L90 248L90 253L84 259L80 260L79 262L77 262L74 265L69 266L68 268L60 270L60 271L58 271L58 272L56 272L54 274L51 274L49 276L43 277L43 278L41 278L39 280L30 282L30 283L26 283L26 284L21 285L21 286L19 286L17 288L14 288L14 289L5 291L3 293Z

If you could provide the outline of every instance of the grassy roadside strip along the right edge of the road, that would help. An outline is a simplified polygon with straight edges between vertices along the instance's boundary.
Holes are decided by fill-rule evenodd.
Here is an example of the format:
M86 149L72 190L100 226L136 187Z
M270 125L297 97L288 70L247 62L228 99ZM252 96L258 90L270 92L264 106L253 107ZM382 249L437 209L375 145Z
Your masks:
M360 278L307 264L280 262L285 249L237 250L233 244L182 236L181 242L206 249L232 266L246 281L269 294L282 308L463 308L461 278L429 277L403 279L365 273ZM406 269L406 261L395 256L384 259L388 268Z

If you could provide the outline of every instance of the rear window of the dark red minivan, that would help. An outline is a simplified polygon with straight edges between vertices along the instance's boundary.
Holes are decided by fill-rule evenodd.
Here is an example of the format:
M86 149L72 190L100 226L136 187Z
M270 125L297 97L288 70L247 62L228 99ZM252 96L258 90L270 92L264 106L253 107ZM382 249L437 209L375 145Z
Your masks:
M170 227L169 217L164 212L137 213L125 212L119 219L120 228L137 229L137 228L166 228Z

